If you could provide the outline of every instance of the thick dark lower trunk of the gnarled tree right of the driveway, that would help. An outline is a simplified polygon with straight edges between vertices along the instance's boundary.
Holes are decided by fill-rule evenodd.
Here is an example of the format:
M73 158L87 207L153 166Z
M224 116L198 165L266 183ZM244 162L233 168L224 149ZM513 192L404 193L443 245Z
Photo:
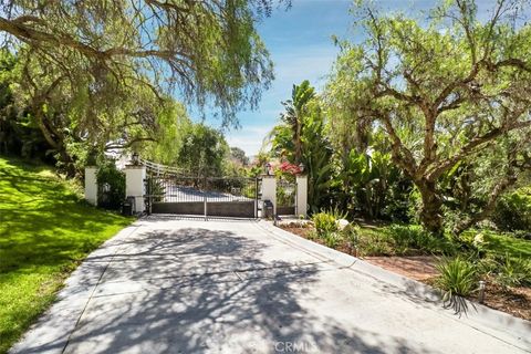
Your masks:
M436 184L433 181L420 180L415 183L423 198L423 208L420 210L420 221L429 232L442 235L442 216L440 208L442 201L437 194Z

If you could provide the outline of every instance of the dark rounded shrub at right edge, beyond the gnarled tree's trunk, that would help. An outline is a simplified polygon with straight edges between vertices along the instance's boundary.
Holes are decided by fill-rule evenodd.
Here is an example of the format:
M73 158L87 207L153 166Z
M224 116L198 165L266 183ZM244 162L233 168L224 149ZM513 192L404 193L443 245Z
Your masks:
M491 218L500 230L531 230L531 187L501 197Z

